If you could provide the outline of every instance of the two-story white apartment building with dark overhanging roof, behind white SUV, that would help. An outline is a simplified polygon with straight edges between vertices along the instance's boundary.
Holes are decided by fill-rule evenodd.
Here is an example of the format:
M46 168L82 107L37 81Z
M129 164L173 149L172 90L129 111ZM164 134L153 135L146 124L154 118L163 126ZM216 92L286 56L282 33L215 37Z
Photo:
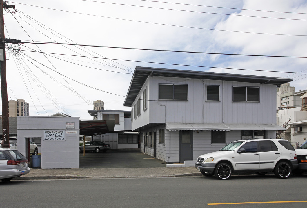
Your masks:
M290 79L136 67L124 106L141 151L196 160L238 139L276 137L276 86Z

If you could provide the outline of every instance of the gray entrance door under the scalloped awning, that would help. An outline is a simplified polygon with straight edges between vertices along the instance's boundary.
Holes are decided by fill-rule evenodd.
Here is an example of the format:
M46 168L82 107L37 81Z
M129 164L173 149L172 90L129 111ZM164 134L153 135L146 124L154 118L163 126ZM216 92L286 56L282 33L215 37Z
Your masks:
M192 131L180 131L180 150L179 150L179 162L184 163L185 160L193 160L193 132Z

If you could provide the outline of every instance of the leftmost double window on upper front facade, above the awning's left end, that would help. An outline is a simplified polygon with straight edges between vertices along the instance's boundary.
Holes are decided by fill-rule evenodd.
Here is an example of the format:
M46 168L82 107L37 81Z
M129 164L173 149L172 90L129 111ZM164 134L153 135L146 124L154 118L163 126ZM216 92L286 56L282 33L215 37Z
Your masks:
M188 100L188 85L159 84L159 100Z

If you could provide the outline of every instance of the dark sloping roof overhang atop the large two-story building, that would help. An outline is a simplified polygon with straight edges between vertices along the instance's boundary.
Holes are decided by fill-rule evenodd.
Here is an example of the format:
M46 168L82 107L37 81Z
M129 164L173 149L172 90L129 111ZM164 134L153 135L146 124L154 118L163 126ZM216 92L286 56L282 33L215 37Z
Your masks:
M224 80L235 82L248 82L258 84L274 84L280 86L293 80L288 78L278 78L270 76L252 76L242 74L227 74L216 72L202 72L202 71L189 71L178 69L161 69L150 67L135 67L134 75L131 79L130 86L124 101L124 106L131 107L134 100L138 96L141 88L143 87L148 76L165 76L165 77L179 77L191 79L205 79L205 80Z

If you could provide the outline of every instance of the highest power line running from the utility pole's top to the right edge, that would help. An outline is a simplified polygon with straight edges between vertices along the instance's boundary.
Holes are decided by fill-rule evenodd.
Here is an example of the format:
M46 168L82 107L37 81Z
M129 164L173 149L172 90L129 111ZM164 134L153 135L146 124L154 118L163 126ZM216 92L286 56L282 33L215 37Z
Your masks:
M22 4L22 3L19 3L19 4ZM181 25L174 25L174 24L164 24L164 23L147 22L147 21L140 21L140 20L128 20L128 19L116 18L116 17L106 17L106 16L101 16L101 15L86 14L86 13L80 13L80 12L71 12L71 11L66 11L66 10L61 10L61 9L52 9L52 8L47 8L47 7L42 7L42 6L28 5L28 4L22 4L22 5L33 6L33 7L43 8L43 9L51 9L51 10L56 10L56 11L61 11L61 12L68 12L68 13L75 13L75 14L83 14L83 15L88 15L88 16L93 16L93 17L103 17L103 18L109 18L109 19L115 19L115 20L125 20L125 21L140 22L140 23L146 23L146 24L157 24L157 25L172 26L172 27L181 27L181 28L192 28L192 29L202 29L202 30L211 30L211 31L223 31L223 32L239 32L239 33L261 34L261 35L307 36L307 35L295 35L295 34L277 34L277 33L261 33L261 32L243 32L243 31L232 31L232 30L218 30L218 29L209 29L209 28L198 28L198 27L189 27L189 26L181 26ZM17 11L18 11L18 10L17 10Z

